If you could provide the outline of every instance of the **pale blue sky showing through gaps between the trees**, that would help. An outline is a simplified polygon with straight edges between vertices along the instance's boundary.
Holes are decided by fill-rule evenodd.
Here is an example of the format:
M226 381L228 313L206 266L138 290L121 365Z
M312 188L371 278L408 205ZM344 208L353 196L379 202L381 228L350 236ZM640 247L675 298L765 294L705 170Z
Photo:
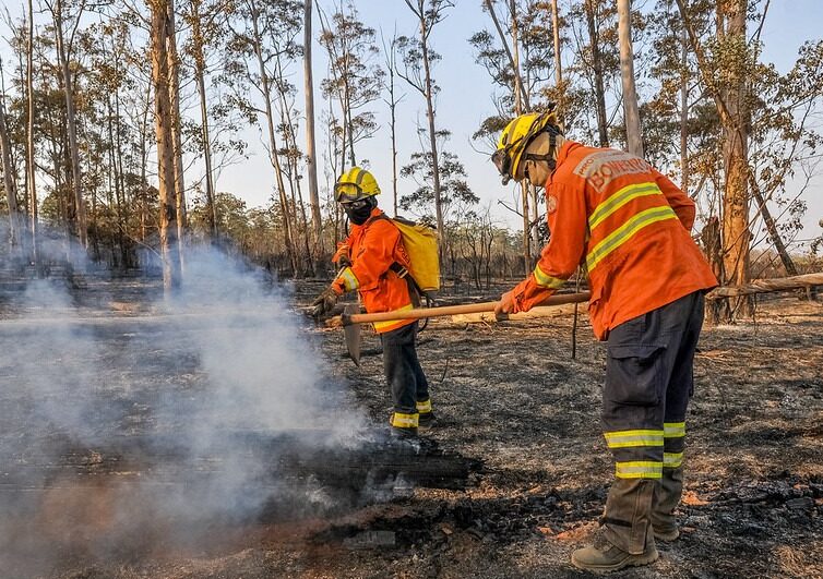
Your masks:
M333 10L331 0L314 0L326 12ZM652 5L653 0L636 2L635 5ZM560 0L560 10L568 5L568 0ZM467 39L484 27L491 28L489 16L482 12L481 0L456 0L456 8L449 17L437 26L431 36L434 49L442 55L433 75L441 87L438 98L437 122L439 128L452 131L452 137L446 148L457 154L466 167L469 185L481 198L484 205L492 207L492 215L501 225L518 227L520 219L498 205L498 200L511 202L512 186L500 184L497 173L488 161L488 155L475 150L481 143L472 142L480 121L493 111L491 100L491 83L480 65L475 63L474 53ZM356 5L365 23L377 31L381 28L387 36L397 28L398 34L413 35L416 22L403 0L357 0ZM20 4L10 7L13 16L23 13ZM763 31L763 60L774 62L782 71L787 70L797 58L797 50L809 39L821 37L823 29L823 3L820 0L774 0L771 2L770 13ZM320 23L315 17L314 36L320 31ZM4 33L5 31L3 31ZM0 48L8 55L7 47ZM315 55L315 91L320 79L325 73L323 50L319 45L314 47ZM381 59L382 58L378 57ZM295 67L295 82L302 85L299 76L300 67ZM401 81L402 82L402 81ZM398 108L398 162L407 162L409 155L419 149L416 125L426 122L425 101L419 93L402 87L406 93L404 101ZM298 104L301 104L301 97ZM315 96L315 109L321 110L323 99ZM381 200L383 205L391 204L391 140L387 122L387 107L382 101L373 104L381 130L368 142L357 147L358 156L370 161L372 172L384 191ZM302 108L302 107L300 107ZM194 114L195 111L192 111ZM247 201L250 206L266 204L272 194L274 179L265 152L260 145L257 130L244 133L250 143L249 158L226 168L217 183L222 191L231 192ZM572 138L574 135L570 135ZM321 138L321 135L318 134ZM319 147L322 145L319 144ZM823 166L821 167L823 171ZM322 188L321 173L321 188ZM414 189L410 180L401 180L401 193ZM801 237L819 234L818 220L823 217L823 177L818 176L806 195L809 212L804 218L807 225Z

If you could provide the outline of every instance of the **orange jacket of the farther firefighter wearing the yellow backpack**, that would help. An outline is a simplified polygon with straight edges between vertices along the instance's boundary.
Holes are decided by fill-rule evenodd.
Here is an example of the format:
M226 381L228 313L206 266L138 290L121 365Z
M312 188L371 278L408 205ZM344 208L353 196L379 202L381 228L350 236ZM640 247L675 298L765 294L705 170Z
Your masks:
M350 225L345 244L349 248L351 266L341 270L332 282L337 294L358 290L368 313L412 310L412 294L408 281L391 269L398 263L408 267L409 258L403 246L403 239L397 227L390 219L383 219L383 212L374 207L371 217L363 225ZM414 319L378 322L374 329L379 333L391 331Z

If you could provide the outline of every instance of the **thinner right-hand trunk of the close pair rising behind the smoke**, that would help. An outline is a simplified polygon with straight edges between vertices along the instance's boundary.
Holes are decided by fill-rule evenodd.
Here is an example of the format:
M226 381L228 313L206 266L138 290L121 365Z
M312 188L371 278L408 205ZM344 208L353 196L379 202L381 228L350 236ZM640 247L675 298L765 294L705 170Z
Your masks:
M171 104L171 143L175 147L175 210L177 212L177 245L180 267L183 267L183 240L186 239L186 182L183 180L182 121L180 119L180 59L177 53L177 27L175 25L175 0L166 0L168 50L168 88Z

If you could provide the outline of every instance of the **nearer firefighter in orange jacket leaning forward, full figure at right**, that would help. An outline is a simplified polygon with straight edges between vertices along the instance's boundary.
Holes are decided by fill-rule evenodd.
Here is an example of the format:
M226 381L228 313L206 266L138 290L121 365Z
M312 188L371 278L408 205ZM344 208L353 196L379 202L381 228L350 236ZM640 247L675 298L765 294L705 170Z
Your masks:
M503 183L546 189L551 239L499 313L528 311L585 264L595 335L608 341L603 429L615 481L579 568L607 572L657 559L673 541L683 486L685 411L703 294L717 285L690 237L694 203L647 161L563 137L553 111L503 130L492 160Z

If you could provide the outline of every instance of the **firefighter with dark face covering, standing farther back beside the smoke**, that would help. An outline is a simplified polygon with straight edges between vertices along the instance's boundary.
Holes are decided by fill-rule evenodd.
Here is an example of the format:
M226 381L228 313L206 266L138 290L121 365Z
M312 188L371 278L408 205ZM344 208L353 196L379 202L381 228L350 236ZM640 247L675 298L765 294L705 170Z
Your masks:
M378 208L380 188L374 177L353 167L341 176L334 189L350 222L349 236L334 256L343 268L312 303L314 315L327 314L337 298L354 290L360 292L368 313L410 310L418 295L407 275L408 253L397 226ZM392 432L401 436L414 436L418 426L429 426L433 420L429 385L417 359L417 328L415 319L374 324L394 401L390 423Z

